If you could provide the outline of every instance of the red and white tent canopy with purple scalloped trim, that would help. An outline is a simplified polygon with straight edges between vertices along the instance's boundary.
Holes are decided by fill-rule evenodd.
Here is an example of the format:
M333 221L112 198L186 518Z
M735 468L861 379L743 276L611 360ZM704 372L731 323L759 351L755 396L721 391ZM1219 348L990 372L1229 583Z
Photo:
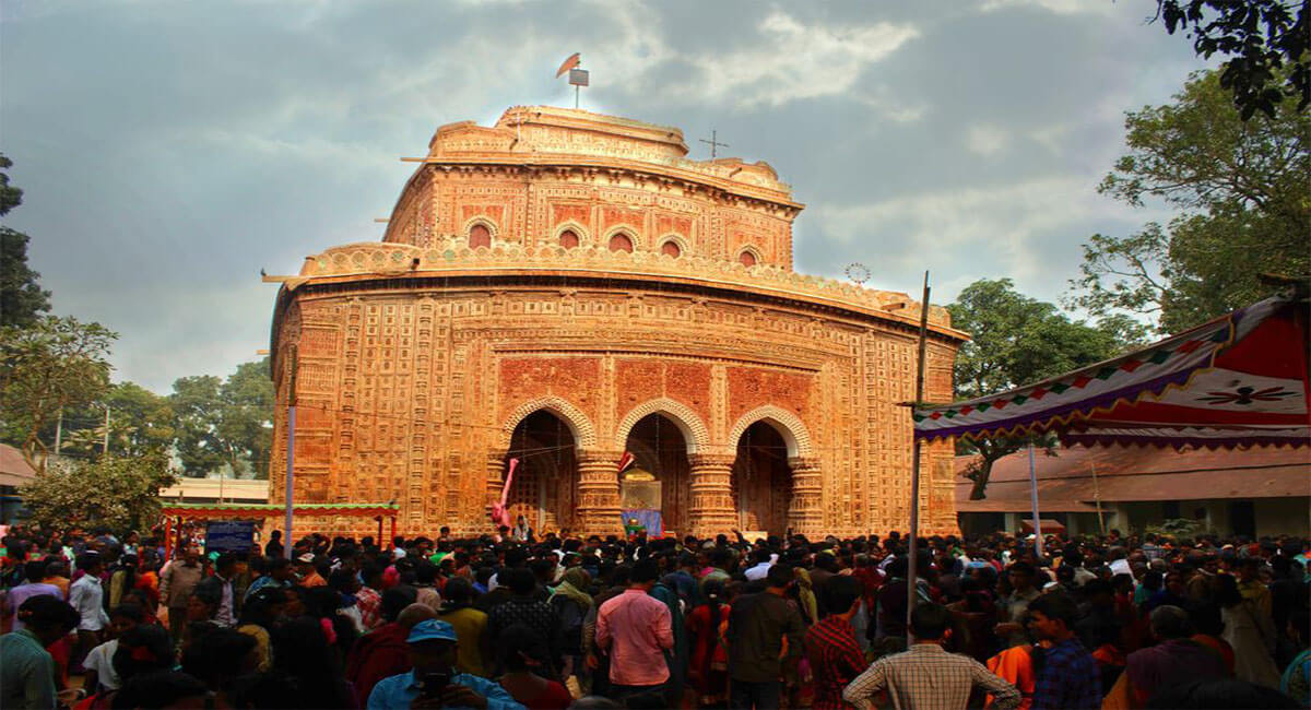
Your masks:
M1084 445L1304 447L1307 313L1306 297L1276 296L1041 383L916 406L915 438L1055 434Z

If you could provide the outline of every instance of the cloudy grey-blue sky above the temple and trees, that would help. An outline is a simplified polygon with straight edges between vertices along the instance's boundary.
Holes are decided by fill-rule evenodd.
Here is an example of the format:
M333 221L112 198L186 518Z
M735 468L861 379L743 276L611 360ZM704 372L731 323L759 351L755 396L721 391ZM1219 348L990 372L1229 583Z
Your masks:
M380 238L437 126L572 105L767 160L808 208L800 271L935 301L1009 276L1058 299L1095 232L1151 210L1095 187L1124 111L1202 68L1154 0L953 3L3 0L8 224L55 310L121 333L115 377L168 392L267 347L305 254Z

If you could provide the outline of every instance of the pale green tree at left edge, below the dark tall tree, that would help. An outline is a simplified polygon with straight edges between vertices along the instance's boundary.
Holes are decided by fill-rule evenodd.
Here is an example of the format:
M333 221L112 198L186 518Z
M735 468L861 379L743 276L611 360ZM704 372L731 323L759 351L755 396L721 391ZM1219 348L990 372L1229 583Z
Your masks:
M45 469L49 449L41 434L59 413L104 396L117 338L100 324L72 317L0 326L0 435L22 449L31 468Z

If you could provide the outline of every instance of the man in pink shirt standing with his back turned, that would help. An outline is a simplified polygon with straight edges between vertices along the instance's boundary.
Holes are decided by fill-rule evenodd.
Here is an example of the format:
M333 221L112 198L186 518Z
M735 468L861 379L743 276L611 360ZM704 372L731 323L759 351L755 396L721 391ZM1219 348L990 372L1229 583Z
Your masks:
M659 578L654 559L633 565L628 589L597 612L597 646L610 655L612 698L662 694L669 680L665 651L674 647L669 607L650 596Z

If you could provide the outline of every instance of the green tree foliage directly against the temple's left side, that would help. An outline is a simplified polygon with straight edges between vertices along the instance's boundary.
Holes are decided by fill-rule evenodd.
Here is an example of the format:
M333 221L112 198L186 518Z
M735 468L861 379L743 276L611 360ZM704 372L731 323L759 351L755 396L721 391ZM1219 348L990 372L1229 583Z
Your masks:
M267 477L273 443L273 381L267 362L244 363L227 380L206 375L173 383L177 455L186 476L229 466L236 477Z

